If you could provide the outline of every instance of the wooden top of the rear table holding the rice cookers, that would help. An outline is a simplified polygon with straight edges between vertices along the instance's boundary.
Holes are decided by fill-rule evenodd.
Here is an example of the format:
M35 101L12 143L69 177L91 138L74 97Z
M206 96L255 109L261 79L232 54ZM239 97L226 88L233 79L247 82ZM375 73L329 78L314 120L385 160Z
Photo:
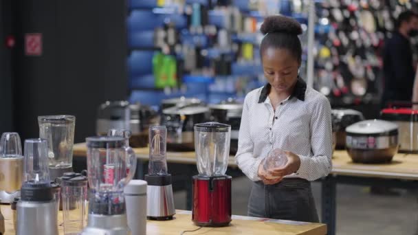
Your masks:
M85 143L74 144L75 156L86 156ZM148 160L148 148L133 148L139 159ZM167 152L169 163L196 164L195 152ZM378 177L388 179L418 180L418 155L398 153L389 164L356 164L351 161L346 150L336 150L333 154L331 174L355 177ZM237 167L234 156L230 156L228 166Z

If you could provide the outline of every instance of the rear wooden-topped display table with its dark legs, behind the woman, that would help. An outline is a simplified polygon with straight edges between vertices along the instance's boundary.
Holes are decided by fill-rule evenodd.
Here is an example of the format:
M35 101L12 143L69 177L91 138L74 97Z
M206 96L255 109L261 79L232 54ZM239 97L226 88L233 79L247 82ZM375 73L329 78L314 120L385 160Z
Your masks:
M148 148L134 148L138 164L137 172L141 176L148 161ZM86 156L87 148L84 143L74 145L75 156ZM196 169L195 152L173 153L167 152L167 162L190 166L188 172ZM336 150L333 154L333 168L331 174L323 179L321 193L322 223L327 223L328 234L336 234L336 199L337 183L358 186L382 186L392 188L418 188L418 155L398 153L388 164L356 164L351 161L346 150ZM228 161L230 172L239 172L234 156ZM242 173L241 173L242 174ZM189 176L191 177L191 175ZM191 205L190 182L186 182L187 205Z

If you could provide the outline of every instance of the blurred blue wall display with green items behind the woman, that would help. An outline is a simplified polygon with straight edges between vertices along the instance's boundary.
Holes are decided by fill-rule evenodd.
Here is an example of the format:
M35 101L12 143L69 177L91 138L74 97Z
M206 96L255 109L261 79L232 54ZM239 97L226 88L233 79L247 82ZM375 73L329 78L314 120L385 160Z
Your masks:
M140 91L164 91L161 99L195 96L208 103L242 99L266 82L259 27L271 14L292 16L302 24L304 76L307 5L308 0L129 1L131 101L161 101L140 96Z

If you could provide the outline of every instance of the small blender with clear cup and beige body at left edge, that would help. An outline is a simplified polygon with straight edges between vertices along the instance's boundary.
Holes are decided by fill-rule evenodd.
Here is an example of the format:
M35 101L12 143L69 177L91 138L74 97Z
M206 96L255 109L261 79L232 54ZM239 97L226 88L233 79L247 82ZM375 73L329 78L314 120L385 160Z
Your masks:
M20 196L23 181L23 155L18 133L6 132L0 139L0 201L12 203Z

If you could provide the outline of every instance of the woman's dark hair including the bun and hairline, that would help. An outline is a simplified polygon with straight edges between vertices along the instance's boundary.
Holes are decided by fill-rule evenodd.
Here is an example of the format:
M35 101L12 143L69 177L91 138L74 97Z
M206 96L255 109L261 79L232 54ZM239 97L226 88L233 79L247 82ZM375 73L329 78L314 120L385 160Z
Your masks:
M260 45L262 57L265 49L274 47L288 49L296 60L302 60L302 46L298 38L302 34L302 27L298 21L286 16L267 16L260 31L265 34Z

